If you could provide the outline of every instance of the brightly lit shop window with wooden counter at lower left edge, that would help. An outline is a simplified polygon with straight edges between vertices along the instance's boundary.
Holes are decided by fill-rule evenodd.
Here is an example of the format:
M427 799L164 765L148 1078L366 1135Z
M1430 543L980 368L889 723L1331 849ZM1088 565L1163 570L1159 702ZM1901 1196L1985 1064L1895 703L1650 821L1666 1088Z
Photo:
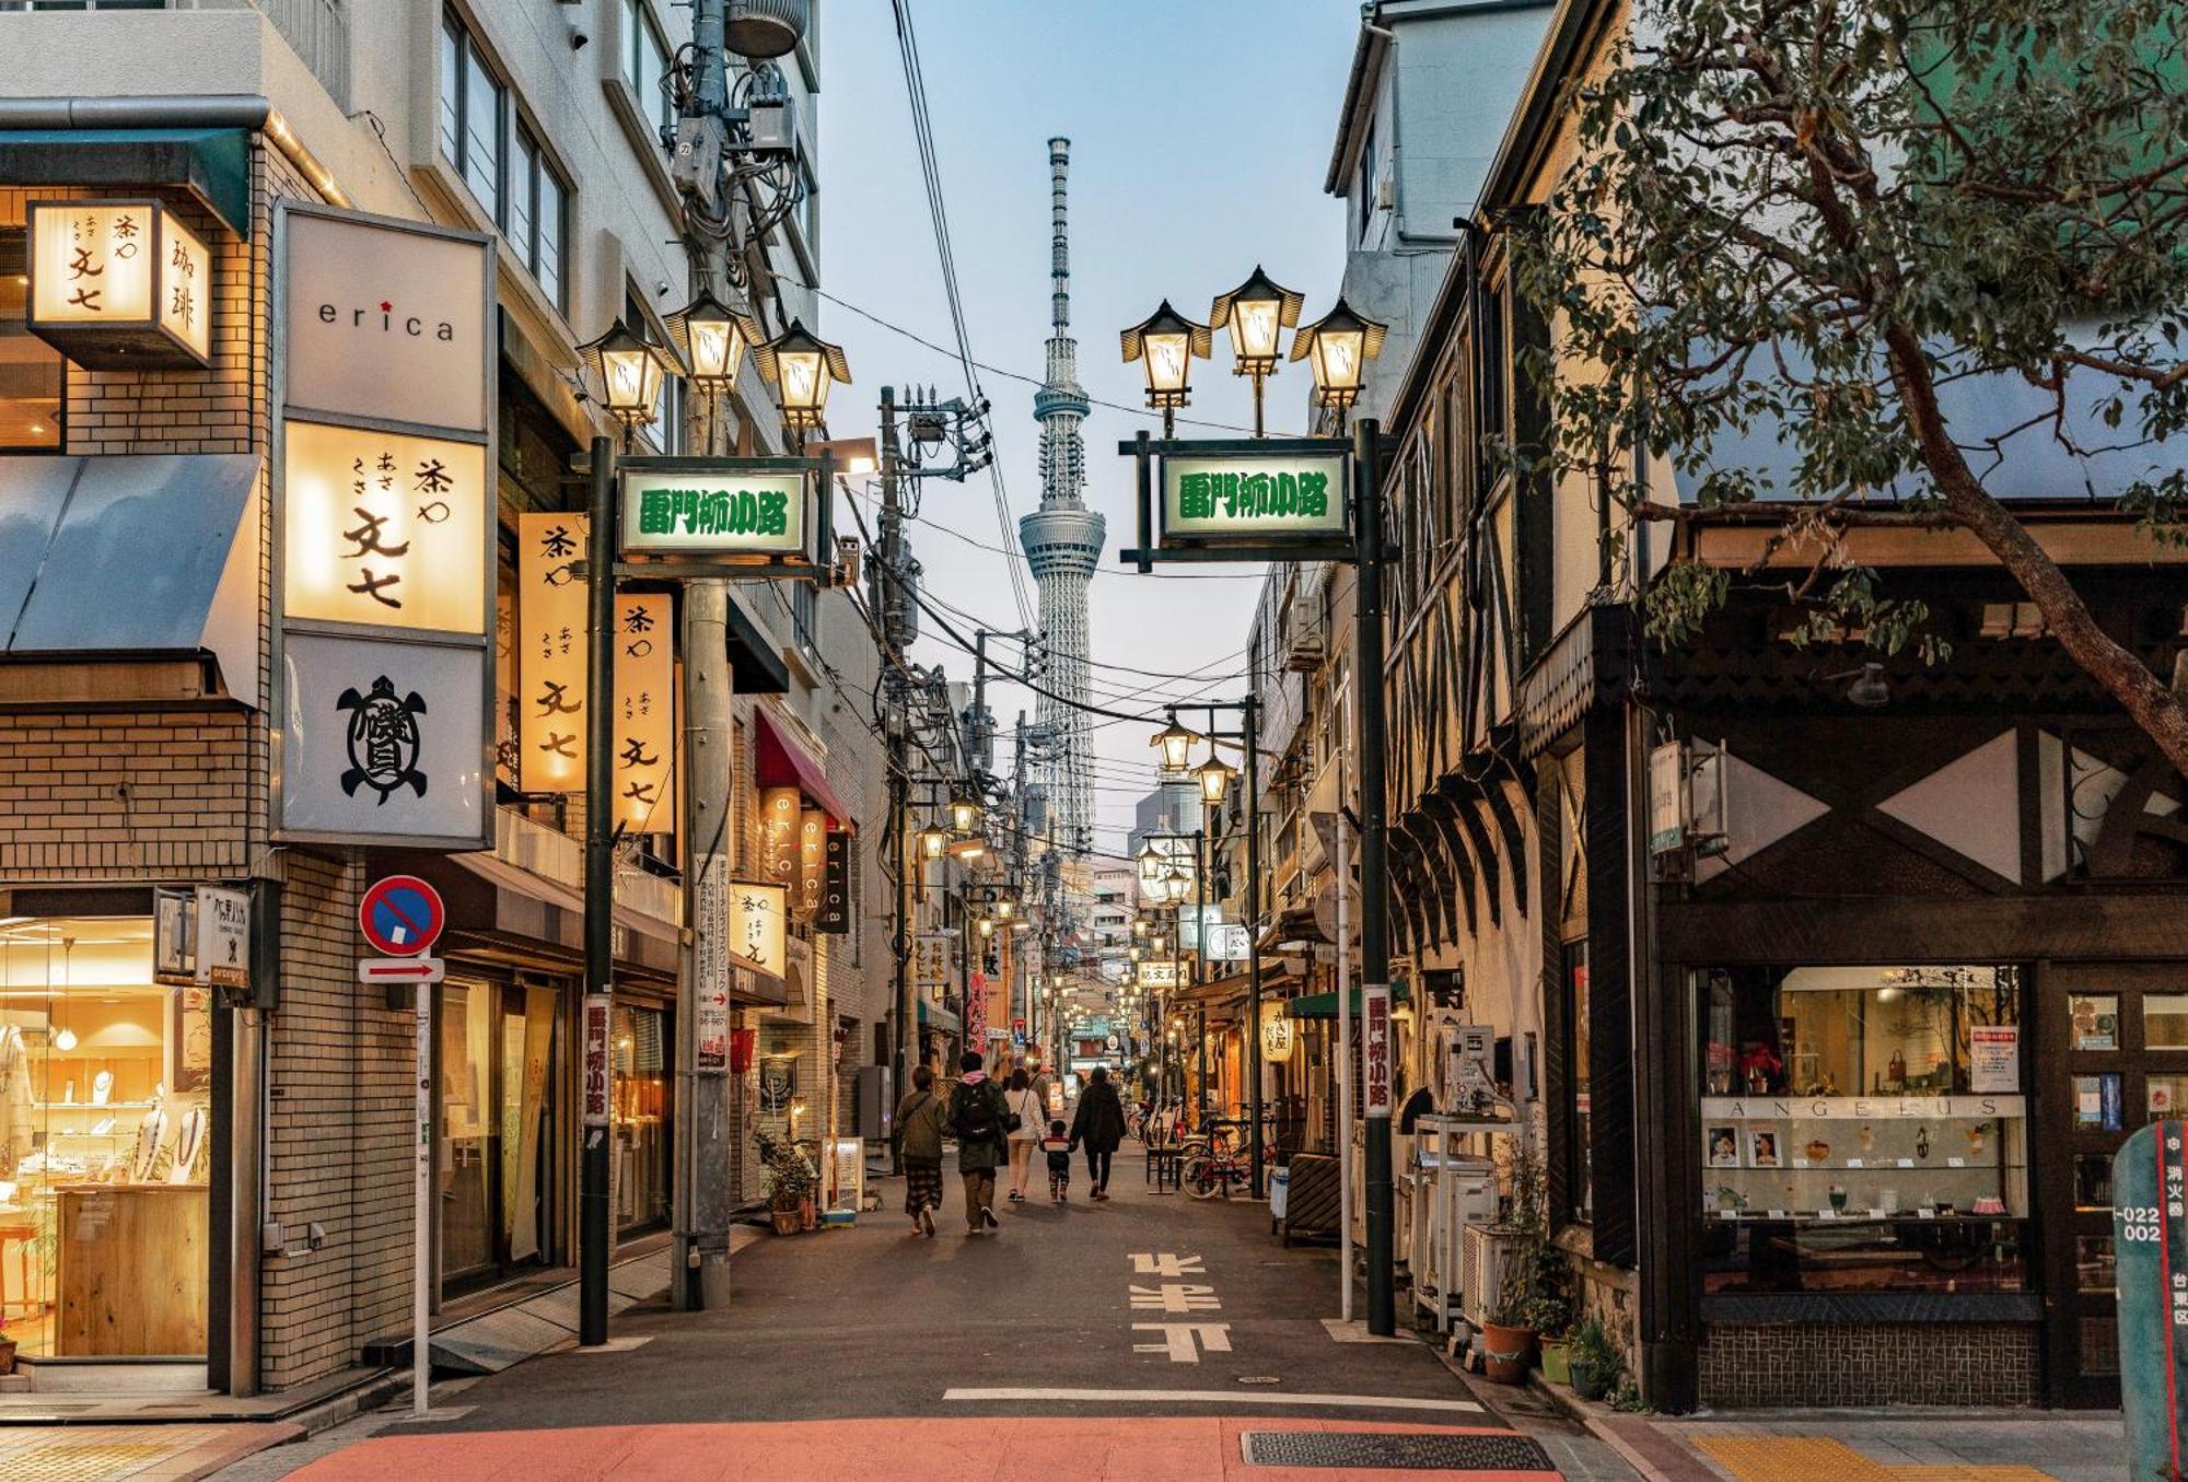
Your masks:
M18 1353L206 1351L210 990L149 916L0 925L0 1314Z

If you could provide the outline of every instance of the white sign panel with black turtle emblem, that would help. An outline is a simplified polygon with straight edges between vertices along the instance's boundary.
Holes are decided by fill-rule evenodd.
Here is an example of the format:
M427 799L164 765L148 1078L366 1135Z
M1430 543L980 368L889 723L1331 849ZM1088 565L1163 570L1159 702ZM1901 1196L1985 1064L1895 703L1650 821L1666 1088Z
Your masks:
M282 667L284 828L449 848L492 837L475 649L289 634Z

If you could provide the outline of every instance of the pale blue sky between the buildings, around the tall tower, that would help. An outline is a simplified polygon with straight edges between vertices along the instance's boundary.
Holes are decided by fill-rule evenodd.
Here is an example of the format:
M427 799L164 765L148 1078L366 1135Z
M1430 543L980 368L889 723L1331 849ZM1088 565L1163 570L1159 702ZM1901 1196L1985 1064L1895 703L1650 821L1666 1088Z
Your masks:
M950 343L950 313L912 144L888 0L825 0L821 24L821 286L880 319ZM1087 420L1087 503L1109 520L1092 588L1096 695L1118 710L1208 689L1245 693L1243 654L1258 581L1247 568L1166 568L1140 577L1116 562L1131 536L1131 466L1116 444L1157 426L1118 330L1164 297L1195 319L1256 262L1328 308L1343 273L1343 205L1322 192L1359 7L1348 0L910 0L928 111L950 210L958 291L974 356L1041 376L1048 339L1048 138L1072 140L1072 332ZM838 304L823 332L851 356L838 437L871 431L880 387L963 389L954 354L934 354ZM1039 503L1033 387L982 372L1011 520ZM1304 367L1269 387L1271 431L1304 431ZM1247 383L1230 352L1195 365L1190 417L1252 426ZM1214 428L1182 433L1223 435ZM928 590L991 627L1020 625L993 490L928 481L910 527ZM956 531L965 540L954 538ZM1192 571L1197 575L1179 575ZM1210 575L1221 573L1221 575ZM1028 599L1033 595L1026 579ZM921 662L971 675L971 656L923 638ZM1125 664L1206 680L1164 682ZM1227 678L1236 675L1236 678ZM1151 686L1138 697L1129 691ZM1031 693L989 702L1004 730ZM1094 732L1096 846L1118 848L1136 791L1151 780L1149 728ZM1006 763L1006 743L1000 761Z

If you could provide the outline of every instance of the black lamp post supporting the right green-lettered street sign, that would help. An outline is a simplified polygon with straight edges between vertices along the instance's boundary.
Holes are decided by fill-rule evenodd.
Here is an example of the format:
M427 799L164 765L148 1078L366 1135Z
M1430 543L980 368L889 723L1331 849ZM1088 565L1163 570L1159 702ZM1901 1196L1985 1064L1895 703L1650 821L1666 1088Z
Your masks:
M1383 426L1363 417L1352 431L1359 468L1359 564L1352 573L1361 697L1361 1038L1368 1071L1368 1331L1398 1331L1394 1285L1394 1200L1389 1185L1389 874L1383 798ZM1343 883L1339 881L1339 887Z

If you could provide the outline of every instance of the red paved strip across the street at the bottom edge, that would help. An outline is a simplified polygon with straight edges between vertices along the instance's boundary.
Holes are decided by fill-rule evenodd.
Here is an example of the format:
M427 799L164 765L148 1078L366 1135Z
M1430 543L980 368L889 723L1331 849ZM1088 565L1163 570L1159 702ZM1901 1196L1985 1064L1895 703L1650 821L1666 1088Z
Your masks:
M831 1482L1387 1482L1389 1471L1247 1467L1241 1432L1326 1430L1501 1434L1483 1425L1376 1425L1249 1419L950 1419L604 1425L584 1430L376 1436L304 1467L291 1482L729 1482L768 1475ZM1553 1471L1409 1471L1413 1478L1543 1482Z

